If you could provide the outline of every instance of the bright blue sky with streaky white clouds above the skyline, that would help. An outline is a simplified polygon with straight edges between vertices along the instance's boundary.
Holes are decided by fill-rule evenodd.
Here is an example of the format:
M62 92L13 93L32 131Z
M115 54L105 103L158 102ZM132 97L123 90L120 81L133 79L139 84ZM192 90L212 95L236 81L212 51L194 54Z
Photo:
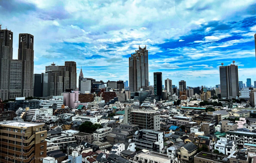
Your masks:
M219 84L220 63L238 65L239 81L256 80L256 2L247 1L0 1L0 24L34 35L34 73L53 61L77 62L84 77L128 80L128 57L147 45L149 81Z

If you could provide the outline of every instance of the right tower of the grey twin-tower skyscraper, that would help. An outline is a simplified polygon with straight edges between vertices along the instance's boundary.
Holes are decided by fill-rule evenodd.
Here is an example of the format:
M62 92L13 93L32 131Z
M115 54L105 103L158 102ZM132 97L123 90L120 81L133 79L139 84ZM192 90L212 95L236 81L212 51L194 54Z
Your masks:
M19 34L18 60L22 61L21 94L24 97L33 96L34 74L34 36Z

